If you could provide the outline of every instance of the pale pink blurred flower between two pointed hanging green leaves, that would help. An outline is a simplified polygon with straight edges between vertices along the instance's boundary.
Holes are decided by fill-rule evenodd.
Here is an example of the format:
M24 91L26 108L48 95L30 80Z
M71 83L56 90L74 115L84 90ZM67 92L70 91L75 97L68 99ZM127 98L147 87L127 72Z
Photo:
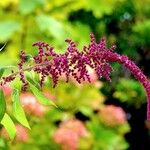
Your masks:
M44 115L46 108L39 104L31 93L22 93L20 99L26 112L37 117Z

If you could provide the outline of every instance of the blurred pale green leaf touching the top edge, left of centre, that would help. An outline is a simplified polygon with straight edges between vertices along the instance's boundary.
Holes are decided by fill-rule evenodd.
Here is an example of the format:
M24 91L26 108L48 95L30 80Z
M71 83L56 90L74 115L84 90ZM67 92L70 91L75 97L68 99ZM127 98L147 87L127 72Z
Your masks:
M19 11L23 15L32 13L37 7L42 6L45 0L20 0Z

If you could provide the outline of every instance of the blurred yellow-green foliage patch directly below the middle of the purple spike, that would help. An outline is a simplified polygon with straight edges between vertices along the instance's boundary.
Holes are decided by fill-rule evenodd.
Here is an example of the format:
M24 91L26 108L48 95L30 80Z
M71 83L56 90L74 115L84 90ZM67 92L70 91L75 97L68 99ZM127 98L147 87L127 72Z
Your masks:
M91 116L93 113L90 108L92 102L96 101L99 105L104 100L103 95L96 90L94 85L90 84L77 87L73 83L65 84L62 81L55 89L51 88L51 91L57 95L56 105L58 108L73 113L81 111L87 116Z

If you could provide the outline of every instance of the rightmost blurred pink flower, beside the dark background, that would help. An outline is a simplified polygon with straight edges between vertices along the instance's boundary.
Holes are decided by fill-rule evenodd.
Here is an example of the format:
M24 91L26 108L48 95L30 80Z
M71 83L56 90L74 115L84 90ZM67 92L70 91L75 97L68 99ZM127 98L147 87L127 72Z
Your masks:
M126 123L126 114L121 107L106 105L100 109L101 121L110 127Z

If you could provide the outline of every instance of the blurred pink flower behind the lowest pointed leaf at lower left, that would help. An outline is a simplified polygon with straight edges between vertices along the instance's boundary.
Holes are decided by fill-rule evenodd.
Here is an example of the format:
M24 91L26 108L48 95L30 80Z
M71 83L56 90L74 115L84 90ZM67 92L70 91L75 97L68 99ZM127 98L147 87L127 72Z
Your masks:
M2 128L2 130L1 130L1 137L5 138L7 140L9 139L9 135L5 128ZM15 141L16 142L27 142L28 139L29 139L28 129L17 124Z

